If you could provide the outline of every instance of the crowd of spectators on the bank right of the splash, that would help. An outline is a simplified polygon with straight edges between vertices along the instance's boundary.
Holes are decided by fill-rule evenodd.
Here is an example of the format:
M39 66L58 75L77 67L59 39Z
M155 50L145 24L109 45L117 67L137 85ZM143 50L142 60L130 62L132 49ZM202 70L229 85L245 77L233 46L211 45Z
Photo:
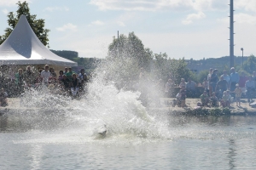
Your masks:
M198 106L223 106L230 107L232 102L236 102L236 106L241 107L241 97L246 98L250 104L255 96L256 71L253 75L246 76L244 71L241 74L236 72L235 68L230 69L230 75L227 71L223 74L218 74L217 69L210 69L209 74L201 83L196 83L189 77L187 82L182 78L178 86L179 92L176 95L176 103L181 106L186 106L186 98L194 98L196 87L203 88L203 93L200 95L201 103ZM166 92L172 87L173 81L169 79L166 82Z

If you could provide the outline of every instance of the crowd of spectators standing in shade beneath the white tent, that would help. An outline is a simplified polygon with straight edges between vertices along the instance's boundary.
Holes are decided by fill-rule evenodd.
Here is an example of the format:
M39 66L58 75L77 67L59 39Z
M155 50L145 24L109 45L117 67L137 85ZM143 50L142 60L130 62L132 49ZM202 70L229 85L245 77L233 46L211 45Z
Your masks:
M32 66L27 65L26 70L19 69L15 73L15 88L12 89L16 94L22 94L26 88L38 88L42 85L47 88L54 89L53 92L65 95L71 95L74 98L84 90L86 82L89 78L81 69L79 74L72 71L71 67L65 67L64 71L59 71L59 75L55 73L54 68L49 68L49 65L45 65L44 68L38 70L38 72L32 71ZM0 92L0 105L8 105L8 94L1 89Z

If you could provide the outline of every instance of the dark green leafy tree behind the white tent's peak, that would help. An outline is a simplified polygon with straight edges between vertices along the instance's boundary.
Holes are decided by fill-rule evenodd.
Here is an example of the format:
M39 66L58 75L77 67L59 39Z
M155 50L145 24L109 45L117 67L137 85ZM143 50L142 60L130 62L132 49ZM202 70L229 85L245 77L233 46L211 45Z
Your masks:
M18 5L18 10L16 11L16 14L13 12L9 12L7 15L8 17L8 25L9 27L5 29L5 34L3 36L0 36L0 44L2 44L10 35L10 33L15 29L16 24L18 23L20 19L20 15L24 14L26 15L26 19L29 23L29 25L32 27L32 30L37 35L38 39L46 46L49 44L48 39L48 32L49 29L44 29L44 20L43 19L36 19L36 14L30 14L30 9L28 7L28 3L23 2L16 3Z

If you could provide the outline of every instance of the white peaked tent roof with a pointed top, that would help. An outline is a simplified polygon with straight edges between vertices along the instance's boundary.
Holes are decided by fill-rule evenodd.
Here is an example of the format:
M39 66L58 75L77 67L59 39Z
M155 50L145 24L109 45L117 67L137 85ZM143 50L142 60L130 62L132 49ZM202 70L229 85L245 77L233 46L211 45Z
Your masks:
M78 64L49 51L32 31L26 16L22 14L15 29L0 45L0 65L77 66Z

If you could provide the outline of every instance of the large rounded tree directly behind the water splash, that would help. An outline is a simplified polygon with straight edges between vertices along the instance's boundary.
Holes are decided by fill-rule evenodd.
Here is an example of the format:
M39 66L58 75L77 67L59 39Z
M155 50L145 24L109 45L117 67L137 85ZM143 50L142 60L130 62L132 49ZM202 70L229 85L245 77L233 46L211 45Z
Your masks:
M128 37L121 34L114 38L108 46L108 80L112 80L119 88L123 88L132 81L137 80L140 72L150 71L153 53L149 48L144 48L143 42L134 34Z

